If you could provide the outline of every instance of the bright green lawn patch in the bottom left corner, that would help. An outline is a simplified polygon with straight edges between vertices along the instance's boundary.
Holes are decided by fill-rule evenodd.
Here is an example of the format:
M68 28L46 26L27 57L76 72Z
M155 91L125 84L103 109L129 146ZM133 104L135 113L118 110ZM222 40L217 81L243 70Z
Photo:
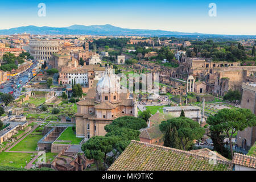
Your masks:
M26 166L26 161L30 162L30 158L33 154L26 153L13 153L13 152L1 152L0 153L0 166L10 166L20 168ZM10 163L13 162L13 163Z

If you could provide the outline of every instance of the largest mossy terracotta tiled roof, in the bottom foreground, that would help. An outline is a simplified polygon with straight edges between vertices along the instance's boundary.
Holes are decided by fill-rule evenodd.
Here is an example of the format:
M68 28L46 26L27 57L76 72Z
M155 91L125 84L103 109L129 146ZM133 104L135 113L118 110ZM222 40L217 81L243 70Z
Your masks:
M216 160L189 151L158 146L132 140L109 171L231 171L233 164Z

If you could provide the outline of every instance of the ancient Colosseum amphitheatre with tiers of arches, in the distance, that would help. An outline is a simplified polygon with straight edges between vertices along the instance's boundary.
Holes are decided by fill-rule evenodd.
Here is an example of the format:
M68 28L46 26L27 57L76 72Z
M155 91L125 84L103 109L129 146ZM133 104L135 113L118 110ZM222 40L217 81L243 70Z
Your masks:
M30 40L30 54L39 61L48 60L53 53L58 52L60 44L58 40Z

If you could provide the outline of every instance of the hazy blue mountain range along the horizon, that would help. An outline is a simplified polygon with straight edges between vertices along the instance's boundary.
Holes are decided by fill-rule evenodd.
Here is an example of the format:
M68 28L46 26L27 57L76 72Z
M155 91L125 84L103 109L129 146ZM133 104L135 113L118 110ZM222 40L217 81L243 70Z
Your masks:
M36 27L36 26L22 26L17 28L10 28L0 30L0 35L10 34L28 34L34 35L106 35L106 36L118 36L118 35L137 35L137 36L223 36L213 34L200 34L200 33L185 33L177 31L164 31L164 30L143 30L143 29L130 29L120 28L112 26L111 24L105 25L91 25L84 26L74 24L69 27ZM226 35L230 36L230 35Z

